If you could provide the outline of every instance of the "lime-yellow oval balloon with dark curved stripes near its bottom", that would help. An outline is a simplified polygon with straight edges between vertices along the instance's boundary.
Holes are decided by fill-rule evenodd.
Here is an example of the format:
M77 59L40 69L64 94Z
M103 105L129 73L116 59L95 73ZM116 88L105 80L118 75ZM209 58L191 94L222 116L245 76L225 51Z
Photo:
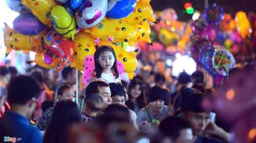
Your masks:
M54 6L51 11L54 29L63 37L72 38L76 34L76 23L73 16L62 6Z

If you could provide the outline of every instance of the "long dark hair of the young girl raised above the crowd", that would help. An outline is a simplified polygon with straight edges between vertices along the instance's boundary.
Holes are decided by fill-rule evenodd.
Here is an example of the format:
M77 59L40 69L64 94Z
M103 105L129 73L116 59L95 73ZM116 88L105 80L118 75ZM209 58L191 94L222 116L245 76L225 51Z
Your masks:
M112 70L114 70L115 76L116 78L119 77L119 73L117 70L117 59L116 59L116 54L114 49L111 46L99 46L97 47L95 53L94 53L94 62L95 62L95 71L96 71L96 77L100 78L101 77L101 73L102 73L102 67L99 64L99 55L103 52L103 51L111 51L112 54L114 55L115 58L115 62L113 67L111 68Z

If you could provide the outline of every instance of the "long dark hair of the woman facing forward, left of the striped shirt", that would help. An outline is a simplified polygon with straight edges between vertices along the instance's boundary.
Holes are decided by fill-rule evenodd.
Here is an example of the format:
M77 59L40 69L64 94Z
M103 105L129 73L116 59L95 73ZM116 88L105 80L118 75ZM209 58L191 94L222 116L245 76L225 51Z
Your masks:
M136 87L136 85L139 85L140 86L140 90L141 90L141 94L140 96L137 98L137 102L138 102L138 105L139 105L139 108L143 108L147 105L147 99L146 99L146 96L143 94L143 83L140 81L140 80L136 80L136 79L133 79L129 86L128 86L128 90L127 90L127 94L129 96L129 100L126 101L126 105L131 109L131 110L134 110L134 104L132 102L132 95L131 95L131 90L133 88Z

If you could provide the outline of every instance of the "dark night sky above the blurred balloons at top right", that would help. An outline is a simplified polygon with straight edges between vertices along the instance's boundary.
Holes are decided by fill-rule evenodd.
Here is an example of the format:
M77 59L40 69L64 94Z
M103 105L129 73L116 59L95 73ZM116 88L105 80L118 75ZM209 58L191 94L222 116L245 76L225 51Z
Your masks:
M190 2L193 4L193 8L198 11L204 10L205 0L152 0L151 5L154 10L163 10L165 8L174 8L178 14L178 19L186 21L191 18L191 15L185 13L184 3ZM224 9L224 12L231 13L233 16L236 12L254 11L256 12L256 0L208 0L209 5L217 3Z

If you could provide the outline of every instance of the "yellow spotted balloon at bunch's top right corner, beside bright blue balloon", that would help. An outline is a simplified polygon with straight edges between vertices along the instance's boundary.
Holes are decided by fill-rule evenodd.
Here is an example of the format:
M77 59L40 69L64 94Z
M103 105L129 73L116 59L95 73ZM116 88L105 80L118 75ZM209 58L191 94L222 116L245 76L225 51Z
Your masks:
M153 9L150 5L150 1L137 2L135 10L126 18L124 18L129 24L138 24L145 20L155 22L156 19L153 15Z

